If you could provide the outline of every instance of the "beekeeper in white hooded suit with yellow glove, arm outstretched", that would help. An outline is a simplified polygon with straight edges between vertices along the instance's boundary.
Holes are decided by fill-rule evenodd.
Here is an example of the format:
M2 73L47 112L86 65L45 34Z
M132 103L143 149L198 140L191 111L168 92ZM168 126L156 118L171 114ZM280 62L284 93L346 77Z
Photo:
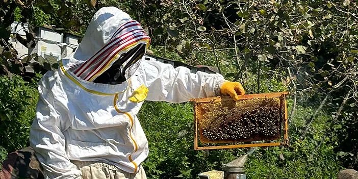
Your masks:
M101 8L75 52L39 82L30 145L45 178L146 178L144 100L244 94L220 74L142 60L150 38L123 11Z

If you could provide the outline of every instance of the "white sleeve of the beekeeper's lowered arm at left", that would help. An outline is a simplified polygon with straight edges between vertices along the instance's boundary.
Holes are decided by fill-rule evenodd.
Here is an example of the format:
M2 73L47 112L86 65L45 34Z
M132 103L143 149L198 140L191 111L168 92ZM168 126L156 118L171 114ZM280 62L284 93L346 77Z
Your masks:
M54 96L48 86L39 83L39 100L36 117L31 125L30 146L43 166L45 178L82 178L81 171L72 164L65 152L65 137L62 131L69 124L61 120L53 106ZM65 116L65 115L64 115Z

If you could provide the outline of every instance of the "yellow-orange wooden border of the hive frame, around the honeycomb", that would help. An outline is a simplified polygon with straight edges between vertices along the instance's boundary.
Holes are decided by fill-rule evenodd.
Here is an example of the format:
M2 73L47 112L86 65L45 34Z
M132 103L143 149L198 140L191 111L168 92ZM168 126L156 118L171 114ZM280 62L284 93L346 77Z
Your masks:
M203 107L198 107L200 105L212 104L216 102L222 102L222 104L232 103L233 99L228 96L218 96L218 97L208 97L208 98L194 98L191 99L194 107L194 149L195 150L204 150L204 149L223 149L223 148L241 148L241 147L261 147L261 146L279 146L279 145L289 145L288 138L288 117L287 117L287 101L286 97L289 95L289 92L278 92L278 93L262 93L262 94L247 94L239 96L240 100L247 99L267 99L267 98L276 98L279 99L279 112L281 117L279 119L279 133L272 137L252 137L248 139L238 139L238 140L208 140L208 138L203 136L203 126L200 126L200 118L203 118ZM235 103L235 102L234 102ZM201 110L201 111L200 111ZM201 124L203 124L202 122ZM283 129L283 130L282 130ZM257 134L258 136L258 134ZM198 138L200 138L200 143L206 146L199 146ZM273 140L280 140L280 142L273 142ZM248 144L232 144L238 142L253 142L253 141L264 141L264 143L248 143ZM210 145L215 144L215 145ZM226 145L221 145L226 144ZM229 145L227 145L229 144ZM209 146L208 146L209 145Z

